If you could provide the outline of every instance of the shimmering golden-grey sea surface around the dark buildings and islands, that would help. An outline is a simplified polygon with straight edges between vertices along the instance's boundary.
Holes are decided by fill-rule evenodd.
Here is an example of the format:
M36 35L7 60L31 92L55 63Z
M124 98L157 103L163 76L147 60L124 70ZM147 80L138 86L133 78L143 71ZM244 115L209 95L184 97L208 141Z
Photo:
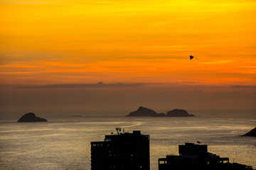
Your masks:
M178 145L200 141L208 152L256 168L256 138L241 137L255 128L256 113L199 113L188 118L123 116L44 117L47 123L0 120L0 169L87 169L90 142L115 128L150 135L151 170L158 159L178 154ZM17 118L18 120L18 118Z

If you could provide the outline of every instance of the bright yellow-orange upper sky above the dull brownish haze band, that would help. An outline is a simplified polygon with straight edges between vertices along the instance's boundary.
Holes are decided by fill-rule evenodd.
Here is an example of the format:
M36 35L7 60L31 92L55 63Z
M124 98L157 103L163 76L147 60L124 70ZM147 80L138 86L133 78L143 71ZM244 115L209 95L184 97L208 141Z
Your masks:
M256 1L1 1L0 11L1 84L256 84Z

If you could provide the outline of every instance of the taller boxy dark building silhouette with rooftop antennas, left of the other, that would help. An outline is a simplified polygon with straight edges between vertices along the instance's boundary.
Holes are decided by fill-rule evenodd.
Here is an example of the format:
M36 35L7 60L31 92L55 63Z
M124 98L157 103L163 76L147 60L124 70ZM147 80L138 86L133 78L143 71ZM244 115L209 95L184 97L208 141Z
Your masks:
M91 142L91 170L149 170L149 135L140 131L105 135L102 142Z

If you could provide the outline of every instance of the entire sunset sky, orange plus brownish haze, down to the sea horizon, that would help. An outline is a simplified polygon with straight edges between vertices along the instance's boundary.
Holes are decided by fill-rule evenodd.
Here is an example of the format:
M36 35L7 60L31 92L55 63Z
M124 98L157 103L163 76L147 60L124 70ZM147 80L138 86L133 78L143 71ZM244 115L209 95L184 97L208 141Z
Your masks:
M95 111L97 105L102 111L122 110L111 107L109 98L95 97L113 93L127 110L147 103L154 103L156 110L256 108L255 28L252 0L1 0L1 113L49 111L53 108L47 109L49 103L54 111L61 111L63 103L70 103L70 111L73 106ZM189 55L196 58L189 60ZM97 84L101 81L109 86ZM57 86L61 84L72 87ZM142 97L149 91L166 94L191 87L184 96L199 91L208 96L208 104L191 103L207 101L203 94L198 100L186 98L184 105L184 98L161 98L176 101L169 107L168 102L163 106L160 100L157 105L157 100ZM81 89L89 91L87 99L78 92ZM226 98L214 98L216 93ZM27 95L31 101L22 104ZM95 101L85 106L89 97ZM129 97L141 100L130 105L122 101ZM52 98L74 101L54 103ZM228 105L222 106L220 99ZM210 104L214 100L216 105ZM39 103L44 103L44 110L37 107Z

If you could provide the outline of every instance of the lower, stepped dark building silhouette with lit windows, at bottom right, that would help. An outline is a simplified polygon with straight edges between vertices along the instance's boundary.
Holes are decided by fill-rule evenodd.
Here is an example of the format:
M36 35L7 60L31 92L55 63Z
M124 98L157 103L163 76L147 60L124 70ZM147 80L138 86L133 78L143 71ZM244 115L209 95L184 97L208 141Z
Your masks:
M159 170L252 170L251 166L231 164L228 158L208 152L207 145L185 143L178 146L179 156L166 155L159 159Z

